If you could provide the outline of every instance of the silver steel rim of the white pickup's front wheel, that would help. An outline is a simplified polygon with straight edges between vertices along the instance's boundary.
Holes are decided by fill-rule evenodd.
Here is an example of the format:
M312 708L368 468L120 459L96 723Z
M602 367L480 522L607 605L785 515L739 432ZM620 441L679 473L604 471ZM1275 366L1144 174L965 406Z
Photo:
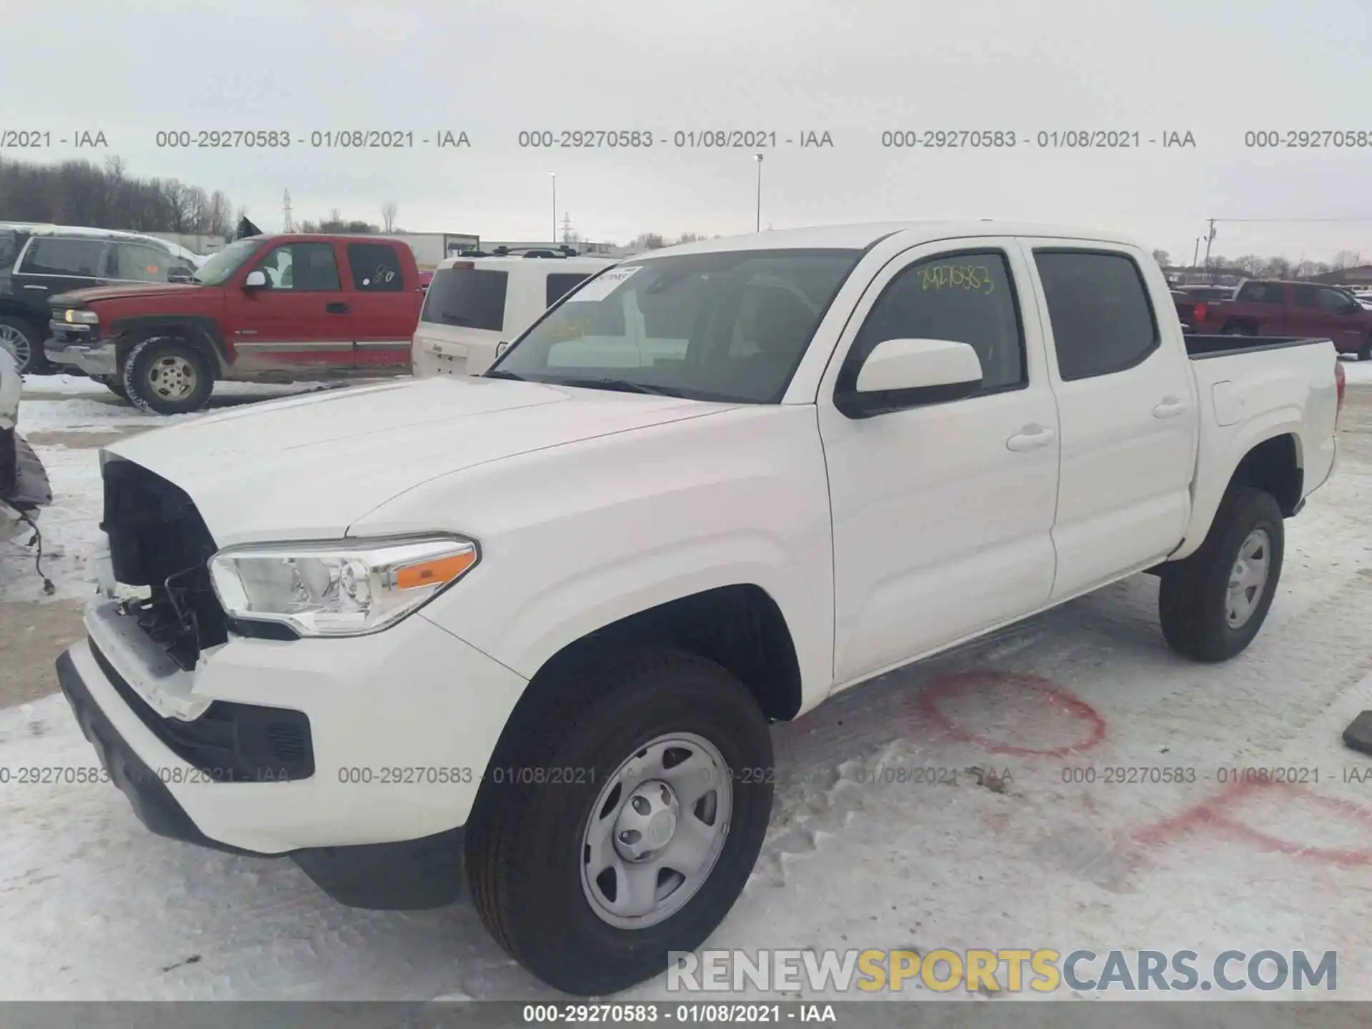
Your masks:
M660 735L609 777L582 834L582 890L619 929L671 918L709 878L729 836L733 781L693 733Z

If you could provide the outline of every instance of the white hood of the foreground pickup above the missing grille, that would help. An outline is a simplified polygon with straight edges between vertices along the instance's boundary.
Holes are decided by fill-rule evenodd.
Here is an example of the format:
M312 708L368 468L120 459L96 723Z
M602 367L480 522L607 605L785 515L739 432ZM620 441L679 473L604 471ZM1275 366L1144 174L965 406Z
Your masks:
M119 440L102 461L126 458L180 486L220 546L332 539L438 476L733 406L434 377L211 414Z

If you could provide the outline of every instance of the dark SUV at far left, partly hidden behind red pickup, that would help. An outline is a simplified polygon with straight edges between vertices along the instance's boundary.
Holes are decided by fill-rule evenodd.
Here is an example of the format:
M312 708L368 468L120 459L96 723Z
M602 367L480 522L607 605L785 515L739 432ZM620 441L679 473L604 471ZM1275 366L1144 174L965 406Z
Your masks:
M195 265L177 251L189 254L134 232L0 222L0 346L14 354L21 373L55 370L43 346L51 296L193 273Z

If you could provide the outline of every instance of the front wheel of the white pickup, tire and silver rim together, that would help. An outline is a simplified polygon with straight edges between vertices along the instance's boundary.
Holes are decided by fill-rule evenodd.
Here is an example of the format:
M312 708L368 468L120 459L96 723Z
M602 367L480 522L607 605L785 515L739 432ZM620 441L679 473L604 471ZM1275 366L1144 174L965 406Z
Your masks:
M612 993L693 951L733 907L771 816L772 748L713 661L609 657L512 723L468 826L482 921L557 989Z

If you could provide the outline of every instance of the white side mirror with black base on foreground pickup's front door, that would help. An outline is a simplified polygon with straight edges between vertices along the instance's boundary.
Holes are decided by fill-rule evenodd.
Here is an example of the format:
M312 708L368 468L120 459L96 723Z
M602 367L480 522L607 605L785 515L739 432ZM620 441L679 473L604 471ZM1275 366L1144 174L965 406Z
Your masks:
M852 388L834 397L851 418L947 403L981 388L981 358L948 339L888 339L863 361ZM840 380L842 381L842 380Z

